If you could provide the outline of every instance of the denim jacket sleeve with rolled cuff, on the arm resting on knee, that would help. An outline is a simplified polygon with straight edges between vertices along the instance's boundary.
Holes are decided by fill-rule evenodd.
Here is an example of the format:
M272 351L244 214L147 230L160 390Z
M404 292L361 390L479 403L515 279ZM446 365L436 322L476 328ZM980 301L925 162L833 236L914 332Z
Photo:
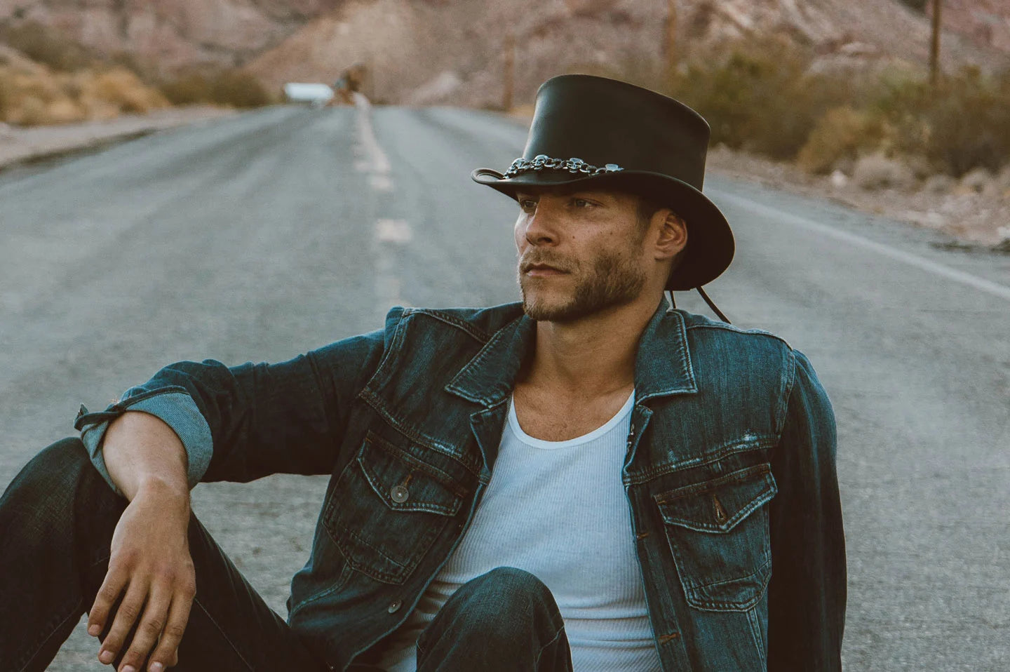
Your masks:
M75 426L82 429L92 462L107 481L101 435L109 421L132 409L161 417L179 435L189 460L190 487L198 481L248 482L276 473L329 474L350 405L378 368L402 311L389 312L385 329L285 362L170 364L104 411L87 413L82 406ZM202 422L193 417L196 411ZM89 431L95 434L85 439Z

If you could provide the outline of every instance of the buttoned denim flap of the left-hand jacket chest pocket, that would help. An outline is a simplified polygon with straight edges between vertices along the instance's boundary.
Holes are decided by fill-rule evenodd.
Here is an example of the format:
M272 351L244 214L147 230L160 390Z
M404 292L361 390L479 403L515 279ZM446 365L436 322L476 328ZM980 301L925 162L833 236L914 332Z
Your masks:
M452 477L369 431L358 463L386 505L398 511L456 515L465 493Z

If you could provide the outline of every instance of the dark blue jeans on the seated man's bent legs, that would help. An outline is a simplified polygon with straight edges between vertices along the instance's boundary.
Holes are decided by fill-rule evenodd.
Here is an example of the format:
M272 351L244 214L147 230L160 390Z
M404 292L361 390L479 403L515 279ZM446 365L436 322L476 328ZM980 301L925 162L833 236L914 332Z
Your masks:
M56 657L94 603L126 504L77 438L43 449L14 477L0 497L0 670L44 670ZM189 547L197 592L173 670L330 669L264 602L196 516ZM130 631L126 642L132 637ZM550 592L512 568L457 591L422 634L418 660L425 672L572 669Z

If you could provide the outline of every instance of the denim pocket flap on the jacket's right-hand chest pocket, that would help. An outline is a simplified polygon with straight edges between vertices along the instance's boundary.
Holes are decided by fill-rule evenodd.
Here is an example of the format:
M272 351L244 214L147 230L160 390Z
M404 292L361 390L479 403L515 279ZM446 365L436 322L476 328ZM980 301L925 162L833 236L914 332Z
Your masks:
M768 464L730 472L653 496L667 524L727 533L779 491Z

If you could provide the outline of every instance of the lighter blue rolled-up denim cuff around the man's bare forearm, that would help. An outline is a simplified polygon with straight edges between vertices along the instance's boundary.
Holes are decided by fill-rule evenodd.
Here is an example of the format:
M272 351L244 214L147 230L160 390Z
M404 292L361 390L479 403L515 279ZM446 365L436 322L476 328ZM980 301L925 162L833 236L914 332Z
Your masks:
M186 480L192 490L200 482L200 479L203 478L207 467L210 465L210 458L213 454L210 426L200 413L200 409L193 401L193 397L186 392L168 390L161 391L159 394L148 395L146 394L147 391L143 387L131 387L123 393L119 401L110 406L110 409L118 407L123 412L126 410L137 410L149 413L161 418L172 427L172 430L176 433L176 436L179 437L183 447L186 449ZM109 412L114 413L114 416L118 415L114 410L107 409L105 411L105 413ZM92 414L88 413L88 409L81 406L81 412L78 414L79 422L76 425L81 429L81 441L87 447L88 455L91 457L91 462L95 465L98 473L102 475L102 478L109 484L109 487L121 496L122 492L112 482L109 470L105 466L105 458L102 455L105 431L108 429L109 423L113 418L102 419L106 415L100 413L97 418L92 417L90 422L80 421L88 419L89 415Z

